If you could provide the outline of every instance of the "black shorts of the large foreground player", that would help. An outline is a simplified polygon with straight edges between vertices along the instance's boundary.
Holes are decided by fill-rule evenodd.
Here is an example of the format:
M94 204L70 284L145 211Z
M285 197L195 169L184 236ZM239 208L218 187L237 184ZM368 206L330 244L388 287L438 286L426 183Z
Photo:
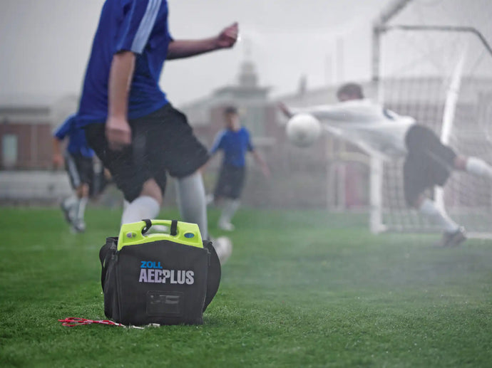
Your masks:
M155 179L164 194L167 173L187 177L207 162L207 149L193 135L186 116L170 104L129 123L132 142L121 151L109 149L104 124L86 127L88 143L127 201L140 195L148 179Z

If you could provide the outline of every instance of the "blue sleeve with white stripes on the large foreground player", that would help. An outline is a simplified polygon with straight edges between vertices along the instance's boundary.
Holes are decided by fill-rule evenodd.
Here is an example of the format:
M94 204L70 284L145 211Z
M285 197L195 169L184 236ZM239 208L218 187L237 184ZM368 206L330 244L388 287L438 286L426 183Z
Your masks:
M133 0L123 14L116 50L142 53L155 26L163 0Z

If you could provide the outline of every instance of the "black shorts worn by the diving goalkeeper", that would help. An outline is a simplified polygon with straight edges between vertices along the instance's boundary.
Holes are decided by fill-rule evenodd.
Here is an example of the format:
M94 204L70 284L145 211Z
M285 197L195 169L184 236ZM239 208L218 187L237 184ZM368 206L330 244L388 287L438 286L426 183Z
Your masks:
M426 189L446 184L456 153L424 125L410 127L405 142L408 154L403 167L404 194L406 203L412 206Z

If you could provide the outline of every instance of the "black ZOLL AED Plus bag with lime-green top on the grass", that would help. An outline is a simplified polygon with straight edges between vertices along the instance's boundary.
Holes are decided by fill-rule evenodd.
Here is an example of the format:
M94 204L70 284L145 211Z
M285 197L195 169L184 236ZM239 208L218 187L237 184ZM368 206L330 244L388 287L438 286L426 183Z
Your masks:
M148 233L153 225L170 233ZM99 258L104 313L123 325L200 325L219 288L219 258L196 224L125 224L119 237L106 238Z

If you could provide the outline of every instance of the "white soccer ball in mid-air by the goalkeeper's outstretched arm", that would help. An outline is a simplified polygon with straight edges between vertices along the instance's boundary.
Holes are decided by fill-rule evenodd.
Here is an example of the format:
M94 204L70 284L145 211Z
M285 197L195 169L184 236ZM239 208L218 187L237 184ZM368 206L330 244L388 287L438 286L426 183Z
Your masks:
M321 134L321 124L316 117L309 114L297 114L287 122L289 142L297 147L309 147Z

